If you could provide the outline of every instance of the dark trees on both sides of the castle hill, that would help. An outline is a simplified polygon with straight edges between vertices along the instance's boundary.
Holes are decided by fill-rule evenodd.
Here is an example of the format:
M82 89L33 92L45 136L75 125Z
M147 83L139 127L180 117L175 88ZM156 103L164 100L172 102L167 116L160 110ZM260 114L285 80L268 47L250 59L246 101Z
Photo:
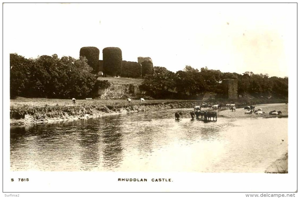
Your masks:
M145 61L146 62L146 61ZM288 97L288 77L269 77L268 74L243 74L221 72L208 68L198 69L185 66L176 73L164 67L153 67L144 63L145 71L131 62L131 66L144 80L140 89L147 91L154 98L195 99L205 92L212 92L220 97L223 94L222 80L236 79L238 94L250 94L254 97ZM143 63L142 63L143 64ZM125 68L126 68L125 67ZM136 74L132 74L135 75ZM79 59L43 55L26 59L18 54L10 54L10 96L32 98L88 98L99 88L107 88L110 83L97 80L93 67L88 65L84 56Z

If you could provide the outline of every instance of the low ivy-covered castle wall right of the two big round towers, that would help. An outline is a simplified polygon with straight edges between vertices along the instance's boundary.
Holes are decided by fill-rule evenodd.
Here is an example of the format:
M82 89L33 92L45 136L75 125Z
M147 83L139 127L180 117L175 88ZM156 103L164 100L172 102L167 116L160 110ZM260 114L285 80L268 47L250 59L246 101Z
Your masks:
M122 61L122 77L137 78L142 74L142 66L138 62Z

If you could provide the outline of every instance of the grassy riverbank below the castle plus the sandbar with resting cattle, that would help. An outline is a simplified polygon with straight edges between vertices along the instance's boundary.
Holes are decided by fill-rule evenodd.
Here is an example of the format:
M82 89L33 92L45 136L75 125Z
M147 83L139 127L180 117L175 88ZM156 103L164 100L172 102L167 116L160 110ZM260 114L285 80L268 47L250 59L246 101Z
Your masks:
M199 103L204 102L205 101L199 100L146 100L145 103L141 103L140 100L132 100L131 103L128 103L126 100L117 99L76 100L76 104L72 104L70 100L63 99L19 97L17 99L10 100L10 125L28 125L78 120L127 112L140 112L174 108L192 108L193 106L199 105ZM257 102L259 101L256 101L256 103ZM206 103L211 102L206 101ZM241 107L248 104L251 103L240 103L239 105ZM283 115L287 115L287 105L283 104L283 106L286 107L284 107L284 109L275 110L281 110L282 112L284 112ZM269 112L270 109L274 110L272 106L268 106L265 111ZM238 113L239 111L243 112L244 110L243 108L237 109L237 112L233 113L229 109L226 109L225 111L220 111L218 114L220 116L231 118L253 116L245 115L244 113ZM268 114L261 116L268 116Z

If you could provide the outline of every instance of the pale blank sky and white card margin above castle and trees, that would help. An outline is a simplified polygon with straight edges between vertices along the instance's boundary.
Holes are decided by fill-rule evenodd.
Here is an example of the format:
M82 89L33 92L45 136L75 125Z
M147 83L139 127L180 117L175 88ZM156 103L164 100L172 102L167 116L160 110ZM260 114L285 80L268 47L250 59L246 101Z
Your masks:
M119 47L170 71L208 67L289 76L296 66L297 4L4 4L4 56Z

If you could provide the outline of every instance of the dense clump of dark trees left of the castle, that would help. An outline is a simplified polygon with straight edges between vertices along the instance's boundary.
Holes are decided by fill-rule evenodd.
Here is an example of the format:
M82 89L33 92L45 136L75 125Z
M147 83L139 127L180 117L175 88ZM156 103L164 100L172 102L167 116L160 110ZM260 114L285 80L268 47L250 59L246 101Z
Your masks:
M85 98L96 77L87 59L43 55L26 59L10 54L10 96L41 98Z

